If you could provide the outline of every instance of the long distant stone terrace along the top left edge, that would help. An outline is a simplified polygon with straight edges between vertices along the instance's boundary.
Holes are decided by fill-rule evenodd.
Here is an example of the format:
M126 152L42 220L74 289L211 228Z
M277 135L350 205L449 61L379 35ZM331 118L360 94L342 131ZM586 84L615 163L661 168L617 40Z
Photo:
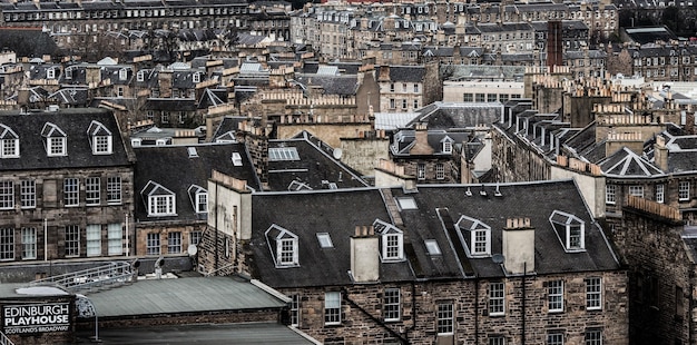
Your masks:
M7 2L0 6L0 10L2 26L43 27L59 47L75 55L91 52L89 47L109 53L151 49L171 55L176 52L174 40L177 34L194 30L200 34L206 30L220 32L234 27L279 40L288 40L291 31L289 6L257 6L246 1ZM163 32L166 34L158 36ZM109 37L116 39L105 41ZM173 59L174 56L166 58L167 61Z

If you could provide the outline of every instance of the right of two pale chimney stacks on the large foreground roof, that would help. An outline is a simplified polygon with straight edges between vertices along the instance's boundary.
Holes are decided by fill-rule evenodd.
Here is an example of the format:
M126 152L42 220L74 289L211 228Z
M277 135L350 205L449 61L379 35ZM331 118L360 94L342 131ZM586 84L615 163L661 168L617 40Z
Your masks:
M505 220L503 267L510 274L534 272L534 228L530 226L530 218Z

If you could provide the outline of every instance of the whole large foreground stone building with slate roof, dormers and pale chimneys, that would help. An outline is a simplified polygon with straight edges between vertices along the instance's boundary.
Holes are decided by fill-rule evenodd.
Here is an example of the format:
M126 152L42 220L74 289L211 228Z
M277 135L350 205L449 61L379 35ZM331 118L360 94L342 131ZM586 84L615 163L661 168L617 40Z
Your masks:
M237 252L202 264L291 296L291 324L324 344L628 344L626 272L573 181L393 178L298 194L215 175L204 241Z

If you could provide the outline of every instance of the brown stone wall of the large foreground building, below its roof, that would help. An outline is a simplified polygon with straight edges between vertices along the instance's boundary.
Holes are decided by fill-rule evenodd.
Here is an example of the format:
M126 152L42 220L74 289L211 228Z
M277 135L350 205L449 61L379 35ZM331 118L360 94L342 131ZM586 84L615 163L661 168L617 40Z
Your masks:
M602 282L600 309L586 307L587 278ZM565 286L565 309L549 312L548 282L559 280ZM489 315L491 283L504 284L503 315ZM384 293L390 288L400 290L397 321L384 317ZM583 344L587 333L592 331L601 331L603 344L629 344L624 270L279 290L300 300L297 308L291 309L291 319L324 344L488 344L494 337L504 338L505 344L544 344L547 335L554 332L563 334L565 343ZM324 322L325 292L342 294L338 325ZM443 303L454 308L452 336L438 332L438 305Z

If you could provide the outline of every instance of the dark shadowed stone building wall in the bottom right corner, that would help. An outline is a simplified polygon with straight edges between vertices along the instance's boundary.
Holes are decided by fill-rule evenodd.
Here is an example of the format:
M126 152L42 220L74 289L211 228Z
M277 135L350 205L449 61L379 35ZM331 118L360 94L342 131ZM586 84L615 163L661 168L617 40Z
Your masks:
M630 197L622 215L612 237L629 267L630 343L691 344L696 267L679 211Z

